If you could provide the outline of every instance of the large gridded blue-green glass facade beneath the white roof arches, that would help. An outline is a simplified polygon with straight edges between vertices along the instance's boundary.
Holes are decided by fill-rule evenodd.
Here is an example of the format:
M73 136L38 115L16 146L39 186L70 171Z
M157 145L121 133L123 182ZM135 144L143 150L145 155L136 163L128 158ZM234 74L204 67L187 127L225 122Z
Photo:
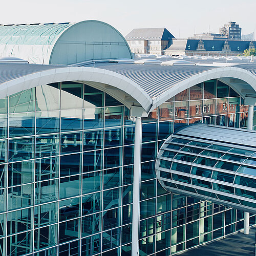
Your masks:
M164 190L155 161L179 127L246 127L247 115L239 95L211 80L143 118L140 255L175 254L243 228L239 210ZM129 109L83 83L1 99L0 256L131 255L134 129Z

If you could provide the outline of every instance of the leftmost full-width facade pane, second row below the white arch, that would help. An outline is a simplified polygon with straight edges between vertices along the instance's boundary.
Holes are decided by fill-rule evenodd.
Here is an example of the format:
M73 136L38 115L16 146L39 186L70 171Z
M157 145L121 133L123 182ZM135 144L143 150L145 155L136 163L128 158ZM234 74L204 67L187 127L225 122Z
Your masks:
M35 113L9 114L9 137L29 136L35 133Z

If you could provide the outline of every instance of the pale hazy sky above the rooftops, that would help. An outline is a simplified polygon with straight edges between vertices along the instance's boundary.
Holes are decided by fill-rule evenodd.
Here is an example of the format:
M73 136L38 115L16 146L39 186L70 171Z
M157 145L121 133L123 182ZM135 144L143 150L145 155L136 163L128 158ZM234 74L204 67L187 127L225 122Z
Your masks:
M242 34L255 30L256 0L2 0L0 24L101 20L122 33L134 28L165 27L176 38L219 28L229 21Z

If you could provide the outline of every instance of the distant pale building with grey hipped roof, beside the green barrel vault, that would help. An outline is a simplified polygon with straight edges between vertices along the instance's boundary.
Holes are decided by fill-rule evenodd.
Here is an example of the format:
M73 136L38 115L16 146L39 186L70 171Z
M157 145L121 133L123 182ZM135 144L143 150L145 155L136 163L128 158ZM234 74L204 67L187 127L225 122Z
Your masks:
M133 29L125 36L133 53L163 54L175 38L165 28Z

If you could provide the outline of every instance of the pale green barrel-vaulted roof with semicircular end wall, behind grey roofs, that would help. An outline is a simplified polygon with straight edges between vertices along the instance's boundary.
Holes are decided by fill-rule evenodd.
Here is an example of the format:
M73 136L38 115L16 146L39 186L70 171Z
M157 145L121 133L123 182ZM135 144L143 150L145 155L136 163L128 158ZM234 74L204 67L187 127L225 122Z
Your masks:
M64 65L91 59L133 58L124 37L97 20L0 26L0 57L7 56L30 63Z

